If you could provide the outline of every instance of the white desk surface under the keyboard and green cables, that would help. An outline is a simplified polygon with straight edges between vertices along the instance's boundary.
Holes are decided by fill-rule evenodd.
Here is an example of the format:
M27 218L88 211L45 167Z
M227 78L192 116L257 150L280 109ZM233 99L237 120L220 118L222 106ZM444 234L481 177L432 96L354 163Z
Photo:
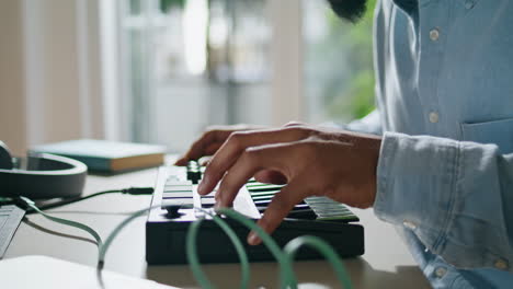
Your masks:
M115 176L88 176L86 194L130 186L152 186L157 169ZM81 221L106 235L127 213L148 206L150 196L121 194L100 196L53 210L55 216ZM344 259L354 288L431 288L394 228L379 221L372 210L354 209L365 228L365 254ZM145 261L145 221L138 218L125 228L107 252L105 268L134 277L152 279L183 288L198 288L187 265L148 266ZM31 215L20 224L4 258L46 255L95 266L96 246L90 236L73 228ZM218 288L237 288L238 264L205 265L204 269ZM340 288L329 265L323 261L297 262L300 284L321 288ZM62 273L65 274L65 273ZM275 263L251 265L251 288L277 287Z

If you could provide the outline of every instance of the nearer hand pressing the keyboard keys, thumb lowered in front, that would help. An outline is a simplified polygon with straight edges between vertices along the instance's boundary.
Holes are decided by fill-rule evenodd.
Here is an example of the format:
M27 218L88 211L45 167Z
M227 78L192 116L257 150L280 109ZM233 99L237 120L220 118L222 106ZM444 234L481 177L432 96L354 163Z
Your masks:
M233 132L207 165L198 193L208 194L220 182L216 206L231 207L252 176L283 177L286 185L258 221L267 233L308 196L367 208L375 199L380 142L373 135L306 126ZM261 241L250 233L248 242Z

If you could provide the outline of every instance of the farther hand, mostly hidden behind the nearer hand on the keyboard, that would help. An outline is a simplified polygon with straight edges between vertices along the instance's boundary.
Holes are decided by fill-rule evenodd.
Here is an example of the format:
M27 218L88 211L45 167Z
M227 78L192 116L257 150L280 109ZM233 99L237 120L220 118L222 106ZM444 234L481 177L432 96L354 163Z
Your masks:
M262 126L255 125L232 125L232 126L213 126L191 146L189 151L182 155L174 164L186 165L190 160L197 160L202 157L213 155L235 131L251 129L262 129Z

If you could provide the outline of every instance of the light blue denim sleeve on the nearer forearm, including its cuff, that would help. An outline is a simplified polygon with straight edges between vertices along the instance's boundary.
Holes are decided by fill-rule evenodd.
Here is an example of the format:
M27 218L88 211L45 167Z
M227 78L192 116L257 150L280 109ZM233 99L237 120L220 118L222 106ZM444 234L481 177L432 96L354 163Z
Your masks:
M513 271L513 154L495 144L386 132L374 210L456 267Z

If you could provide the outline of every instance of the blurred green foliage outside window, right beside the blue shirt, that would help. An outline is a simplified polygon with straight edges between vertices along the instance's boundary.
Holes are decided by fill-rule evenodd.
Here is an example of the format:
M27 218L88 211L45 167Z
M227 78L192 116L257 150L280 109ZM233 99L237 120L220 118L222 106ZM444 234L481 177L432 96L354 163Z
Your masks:
M376 0L368 0L367 12L357 24L341 21L329 9L326 11L329 34L312 47L312 53L333 58L335 66L330 68L331 76L323 80L320 93L329 118L361 118L375 108L372 33L375 4ZM337 65L343 67L339 69Z

